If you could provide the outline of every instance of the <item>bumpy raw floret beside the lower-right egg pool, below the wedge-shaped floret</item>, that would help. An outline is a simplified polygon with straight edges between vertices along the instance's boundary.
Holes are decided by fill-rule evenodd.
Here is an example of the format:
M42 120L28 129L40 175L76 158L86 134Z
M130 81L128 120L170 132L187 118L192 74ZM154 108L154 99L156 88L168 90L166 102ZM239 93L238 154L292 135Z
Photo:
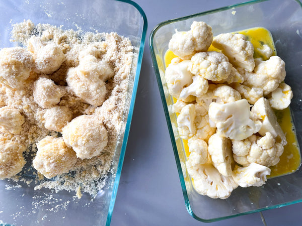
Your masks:
M243 141L233 140L232 143L234 160L244 167L253 162L266 167L274 166L280 161L279 157L283 153L283 146L275 142L269 132L264 137L254 136ZM244 147L246 144L248 145ZM248 154L244 155L247 151Z

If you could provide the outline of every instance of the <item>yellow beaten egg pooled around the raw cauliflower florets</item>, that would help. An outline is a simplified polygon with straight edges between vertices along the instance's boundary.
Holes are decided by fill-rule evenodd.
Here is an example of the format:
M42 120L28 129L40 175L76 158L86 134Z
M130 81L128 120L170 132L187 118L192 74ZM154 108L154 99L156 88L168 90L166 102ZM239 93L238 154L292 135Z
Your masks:
M268 45L273 50L273 55L277 55L272 35L267 29L258 27L234 33L245 35L247 37L247 40L253 44L254 58L262 58L262 60L267 60L267 58L261 53L261 51L259 51L259 49L261 50L264 45ZM221 52L220 50L214 48L212 45L209 47L208 51ZM177 56L171 50L167 50L167 52L165 53L166 67L175 57ZM173 97L173 100L174 102L176 102L176 98ZM280 157L280 162L277 165L270 167L271 174L268 176L270 178L293 173L301 165L300 150L298 147L289 107L284 110L275 110L275 114L277 121L286 136L287 145L284 146L284 152ZM186 156L188 157L190 155L188 141L183 140L183 145L185 148Z

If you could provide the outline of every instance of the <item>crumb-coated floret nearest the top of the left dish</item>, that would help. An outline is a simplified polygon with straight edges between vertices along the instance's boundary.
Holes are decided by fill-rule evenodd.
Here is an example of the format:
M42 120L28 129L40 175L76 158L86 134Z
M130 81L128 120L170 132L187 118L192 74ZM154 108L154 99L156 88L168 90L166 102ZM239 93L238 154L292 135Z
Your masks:
M51 74L59 69L65 60L61 48L53 42L45 42L41 37L32 36L28 40L28 50L33 53L35 64L33 71Z

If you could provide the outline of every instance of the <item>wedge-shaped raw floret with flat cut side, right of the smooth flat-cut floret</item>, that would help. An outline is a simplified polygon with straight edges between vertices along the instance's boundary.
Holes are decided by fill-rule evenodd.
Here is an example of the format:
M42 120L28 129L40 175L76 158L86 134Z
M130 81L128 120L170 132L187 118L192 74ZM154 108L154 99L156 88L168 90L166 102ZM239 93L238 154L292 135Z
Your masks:
M254 112L258 119L262 121L259 134L265 136L266 132L270 132L277 142L281 143L282 146L287 144L286 137L277 122L277 118L274 114L274 111L270 107L269 101L261 97L253 105L252 112Z

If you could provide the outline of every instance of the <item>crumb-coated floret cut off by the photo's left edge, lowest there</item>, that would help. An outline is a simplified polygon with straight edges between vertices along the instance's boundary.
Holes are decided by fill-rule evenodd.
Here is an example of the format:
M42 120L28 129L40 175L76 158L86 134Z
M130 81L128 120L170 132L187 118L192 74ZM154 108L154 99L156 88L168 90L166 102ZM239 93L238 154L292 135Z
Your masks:
M10 178L21 172L25 165L22 153L25 147L7 138L0 138L0 179Z

